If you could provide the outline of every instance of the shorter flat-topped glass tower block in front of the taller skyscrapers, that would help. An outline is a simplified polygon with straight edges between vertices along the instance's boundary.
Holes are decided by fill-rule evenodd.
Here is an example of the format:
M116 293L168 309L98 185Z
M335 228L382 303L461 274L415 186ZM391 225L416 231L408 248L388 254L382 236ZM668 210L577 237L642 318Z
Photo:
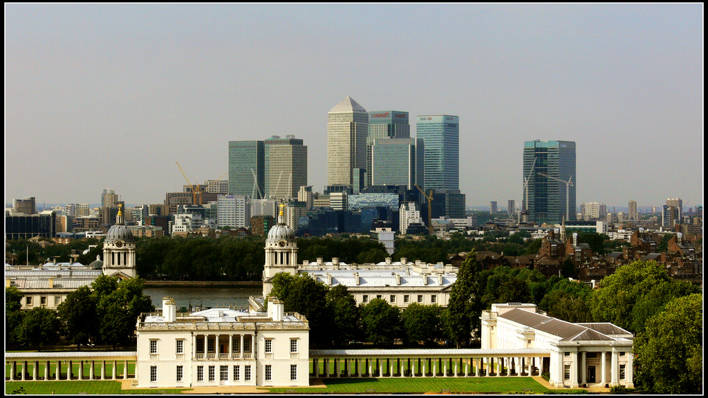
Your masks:
M370 185L423 185L425 147L420 138L377 138L371 148Z

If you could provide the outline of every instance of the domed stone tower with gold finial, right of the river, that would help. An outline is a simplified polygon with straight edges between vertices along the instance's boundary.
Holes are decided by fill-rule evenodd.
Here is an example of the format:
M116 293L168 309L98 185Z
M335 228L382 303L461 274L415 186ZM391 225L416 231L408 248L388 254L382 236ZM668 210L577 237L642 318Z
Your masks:
M285 224L283 205L280 204L278 213L278 224L273 225L268 231L268 238L265 239L265 264L263 266L263 297L273 289L271 279L279 272L287 272L290 275L297 273L297 243L295 243L295 231Z

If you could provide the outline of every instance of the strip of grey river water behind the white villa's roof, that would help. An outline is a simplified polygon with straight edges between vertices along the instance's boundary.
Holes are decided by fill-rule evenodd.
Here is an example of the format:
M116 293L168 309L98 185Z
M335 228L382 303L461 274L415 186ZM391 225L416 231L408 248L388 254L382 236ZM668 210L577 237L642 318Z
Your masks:
M170 296L177 305L177 310L185 307L188 311L197 311L207 307L248 307L249 296L262 296L263 288L144 288L143 294L150 296L156 309L162 307L162 298Z

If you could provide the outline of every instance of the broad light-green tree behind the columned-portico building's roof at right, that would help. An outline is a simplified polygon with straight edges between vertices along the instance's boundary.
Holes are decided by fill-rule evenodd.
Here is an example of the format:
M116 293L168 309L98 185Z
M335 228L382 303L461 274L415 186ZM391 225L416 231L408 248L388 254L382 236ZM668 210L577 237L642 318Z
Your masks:
M637 333L644 327L643 320L671 298L699 291L696 286L670 278L656 261L634 261L600 281L600 288L590 297L590 309L595 322L612 322Z

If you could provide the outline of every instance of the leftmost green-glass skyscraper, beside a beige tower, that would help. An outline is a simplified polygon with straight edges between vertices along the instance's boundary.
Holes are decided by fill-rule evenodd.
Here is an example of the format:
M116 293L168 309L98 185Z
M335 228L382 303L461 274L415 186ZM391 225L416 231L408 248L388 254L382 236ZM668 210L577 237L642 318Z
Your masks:
M256 180L257 186L253 185ZM265 145L263 141L229 141L229 195L263 198Z

